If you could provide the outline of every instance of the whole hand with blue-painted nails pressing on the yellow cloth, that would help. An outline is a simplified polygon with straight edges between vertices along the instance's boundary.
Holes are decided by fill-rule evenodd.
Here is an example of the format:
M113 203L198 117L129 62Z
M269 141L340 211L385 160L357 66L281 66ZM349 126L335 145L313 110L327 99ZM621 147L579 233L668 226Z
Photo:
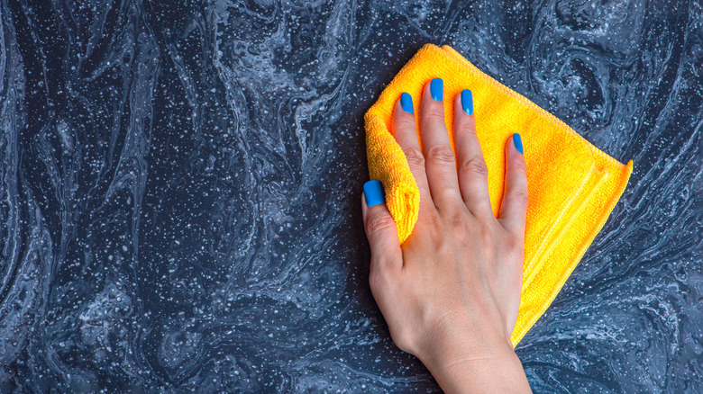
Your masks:
M379 203L379 183L364 187L371 291L393 341L425 363L443 390L529 391L510 343L523 279L522 143L519 135L506 141L506 190L496 218L470 91L454 98L456 158L442 101L437 78L425 86L421 104L422 150L412 99L403 94L396 103L393 135L420 189L419 217L403 246L386 204Z

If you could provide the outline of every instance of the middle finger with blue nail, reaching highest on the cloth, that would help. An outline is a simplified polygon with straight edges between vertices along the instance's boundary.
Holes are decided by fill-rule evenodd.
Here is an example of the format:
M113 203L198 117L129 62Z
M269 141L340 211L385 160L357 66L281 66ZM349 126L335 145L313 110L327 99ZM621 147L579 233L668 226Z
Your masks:
M420 113L427 183L434 205L438 209L443 205L461 201L456 159L444 121L443 95L442 79L434 78L425 85Z

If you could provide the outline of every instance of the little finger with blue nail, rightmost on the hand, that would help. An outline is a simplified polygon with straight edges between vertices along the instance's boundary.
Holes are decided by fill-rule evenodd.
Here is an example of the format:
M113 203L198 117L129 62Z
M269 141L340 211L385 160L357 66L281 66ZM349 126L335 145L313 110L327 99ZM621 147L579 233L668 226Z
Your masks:
M527 196L527 166L523 143L519 134L513 134L506 144L506 190L498 219L504 228L520 239L525 239Z

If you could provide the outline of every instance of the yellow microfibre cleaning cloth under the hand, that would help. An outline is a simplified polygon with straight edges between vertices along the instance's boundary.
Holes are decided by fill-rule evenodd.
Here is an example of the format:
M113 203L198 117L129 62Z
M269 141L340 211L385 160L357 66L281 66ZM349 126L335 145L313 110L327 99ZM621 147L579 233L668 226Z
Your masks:
M417 117L423 87L434 77L444 80L444 97L448 98L444 113L452 148L453 97L463 89L473 94L476 132L488 166L490 203L496 215L503 196L506 140L515 132L522 136L530 197L522 297L511 338L517 345L603 227L625 190L633 163L625 166L607 156L451 47L427 44L393 78L364 118L370 178L384 186L400 243L415 226L420 196L406 157L391 135L393 110L400 94L407 92L415 97Z

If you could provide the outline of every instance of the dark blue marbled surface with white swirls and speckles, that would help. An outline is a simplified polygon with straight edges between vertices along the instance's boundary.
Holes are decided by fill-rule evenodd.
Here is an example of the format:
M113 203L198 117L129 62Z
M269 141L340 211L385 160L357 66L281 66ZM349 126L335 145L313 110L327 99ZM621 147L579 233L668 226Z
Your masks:
M439 391L389 339L359 208L362 114L426 42L635 160L517 348L535 392L703 390L698 0L0 13L1 392Z

